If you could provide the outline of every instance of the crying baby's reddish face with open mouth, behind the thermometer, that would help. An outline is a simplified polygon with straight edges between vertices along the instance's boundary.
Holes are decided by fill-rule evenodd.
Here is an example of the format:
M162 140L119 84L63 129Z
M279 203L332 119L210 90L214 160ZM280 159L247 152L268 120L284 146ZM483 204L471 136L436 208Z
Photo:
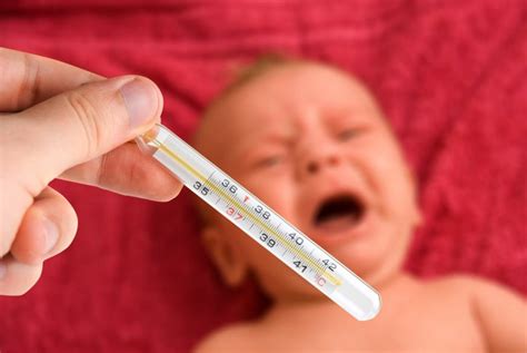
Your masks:
M354 272L375 284L398 271L419 220L415 186L358 81L318 65L274 68L219 102L198 136L199 150ZM316 295L227 220L213 232L231 247L226 262L276 298Z

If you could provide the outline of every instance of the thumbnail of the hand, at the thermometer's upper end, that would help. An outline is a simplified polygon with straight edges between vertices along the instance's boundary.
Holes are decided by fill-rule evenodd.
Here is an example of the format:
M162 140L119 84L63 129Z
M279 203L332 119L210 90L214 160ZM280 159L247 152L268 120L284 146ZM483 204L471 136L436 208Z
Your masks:
M151 82L133 79L121 87L130 127L136 128L150 121L158 107L158 97Z

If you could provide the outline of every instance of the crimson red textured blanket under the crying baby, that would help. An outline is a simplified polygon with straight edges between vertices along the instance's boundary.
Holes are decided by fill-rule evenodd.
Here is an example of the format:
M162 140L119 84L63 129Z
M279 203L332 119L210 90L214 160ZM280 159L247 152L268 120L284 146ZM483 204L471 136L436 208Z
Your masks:
M525 1L109 2L2 1L0 46L152 78L183 138L239 61L285 50L342 66L379 97L418 176L426 225L407 267L527 293ZM188 193L155 204L54 186L79 234L31 292L0 298L0 351L186 352L265 305L252 285L221 286Z

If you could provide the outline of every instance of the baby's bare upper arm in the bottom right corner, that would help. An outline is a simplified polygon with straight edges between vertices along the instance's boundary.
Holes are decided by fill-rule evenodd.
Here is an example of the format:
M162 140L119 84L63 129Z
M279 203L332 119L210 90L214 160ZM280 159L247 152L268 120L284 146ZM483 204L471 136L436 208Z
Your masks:
M470 281L476 318L491 352L527 352L527 303L503 286Z

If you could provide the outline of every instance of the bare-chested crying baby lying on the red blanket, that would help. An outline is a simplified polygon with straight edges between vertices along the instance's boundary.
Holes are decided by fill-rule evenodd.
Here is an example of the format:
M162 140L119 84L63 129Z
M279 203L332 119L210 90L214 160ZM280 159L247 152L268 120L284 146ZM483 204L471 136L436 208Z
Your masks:
M252 275L272 304L257 321L213 332L197 352L527 352L520 296L401 268L421 219L416 185L355 78L305 60L257 62L210 105L195 145L382 297L376 318L354 320L201 205L202 238L225 282Z

